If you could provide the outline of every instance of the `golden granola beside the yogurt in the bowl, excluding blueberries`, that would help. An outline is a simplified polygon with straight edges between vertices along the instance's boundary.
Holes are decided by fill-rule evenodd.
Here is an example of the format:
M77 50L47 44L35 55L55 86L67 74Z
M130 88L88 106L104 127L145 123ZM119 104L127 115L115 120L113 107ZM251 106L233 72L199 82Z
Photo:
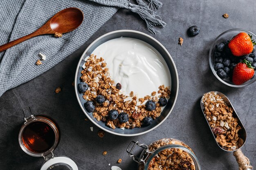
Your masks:
M164 85L159 86L157 92L152 92L144 98L137 98L131 91L129 95L120 91L120 84L115 86L114 80L111 79L106 62L103 58L97 58L96 55L91 55L85 62L84 70L81 71L81 80L89 86L88 90L83 94L83 98L87 101L95 102L97 95L103 95L106 101L103 104L96 104L93 112L93 117L98 121L106 122L110 128L135 128L141 127L141 121L144 117L152 117L156 119L161 115L162 108L159 106L159 97L169 98L171 91L170 87ZM148 111L145 109L147 100L156 102L155 110ZM120 123L117 119L108 119L110 110L117 110L119 113L125 112L129 115L129 121Z

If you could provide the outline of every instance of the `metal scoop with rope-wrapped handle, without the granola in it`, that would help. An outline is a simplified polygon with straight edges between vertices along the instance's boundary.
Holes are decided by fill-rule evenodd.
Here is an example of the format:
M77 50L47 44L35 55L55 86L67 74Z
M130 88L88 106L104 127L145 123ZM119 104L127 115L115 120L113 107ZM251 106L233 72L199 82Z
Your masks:
M237 144L236 146L234 147L231 147L231 148L228 148L228 147L225 147L225 146L220 146L218 144L218 142L216 141L216 137L213 133L213 131L211 130L211 126L209 125L209 122L204 114L204 117L207 121L207 124L211 130L211 133L216 141L216 144L222 149L222 150L225 150L225 151L228 151L228 152L234 152L234 156L236 157L236 161L238 162L238 165L240 168L242 168L242 170L252 170L252 166L249 165L249 159L247 157L245 157L245 155L243 155L242 151L240 150L240 148L245 144L245 141L246 141L246 136L247 136L247 133L246 133L246 130L245 130L245 127L243 126L240 118L238 117L237 113L236 113L236 110L234 109L234 107L232 106L231 102L229 101L229 99L227 98L227 96L225 96L223 93L220 93L218 91L213 91L214 93L216 93L217 95L219 95L220 97L222 97L223 101L225 102L225 104L227 104L227 106L233 108L233 117L234 118L237 118L238 119L238 125L241 127L241 129L238 131L238 141L237 141ZM208 92L208 93L211 93L211 92ZM201 102L200 102L200 105L201 105L201 108L202 108L202 112L204 113L204 102L203 102L203 97L201 99Z

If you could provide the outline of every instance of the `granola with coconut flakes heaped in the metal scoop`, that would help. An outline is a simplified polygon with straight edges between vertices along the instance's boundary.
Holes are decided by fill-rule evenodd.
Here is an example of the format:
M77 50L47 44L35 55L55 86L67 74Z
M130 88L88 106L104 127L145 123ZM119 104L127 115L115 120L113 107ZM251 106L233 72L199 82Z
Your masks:
M238 125L238 119L232 115L233 108L227 106L216 92L205 93L202 102L204 114L218 144L228 148L236 147L241 127Z

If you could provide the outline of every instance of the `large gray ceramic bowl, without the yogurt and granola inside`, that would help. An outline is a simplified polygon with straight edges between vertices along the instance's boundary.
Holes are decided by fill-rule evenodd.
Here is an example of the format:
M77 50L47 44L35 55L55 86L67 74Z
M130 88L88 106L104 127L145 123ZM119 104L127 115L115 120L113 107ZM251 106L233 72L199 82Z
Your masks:
M162 111L161 115L159 117L157 117L157 119L155 119L150 126L134 128L134 129L124 129L124 130L122 130L120 128L115 128L115 129L109 128L108 126L106 126L105 122L97 121L92 116L92 113L88 113L84 109L83 105L85 104L86 101L85 101L85 99L83 99L83 93L80 93L77 90L77 85L81 82L80 77L81 77L81 71L83 70L82 65L85 62L84 61L85 58L90 56L92 51L94 51L94 49L96 49L102 43L104 43L108 40L119 38L119 37L136 38L136 39L142 40L144 42L147 42L148 44L153 46L157 51L159 51L159 53L164 57L164 60L166 61L168 68L170 70L170 73L171 73L171 96L170 96L170 99L168 100L168 104ZM110 132L112 134L120 135L120 136L142 135L146 132L149 132L149 131L157 128L160 124L162 124L164 122L164 120L167 119L168 115L170 115L171 111L173 110L173 107L175 105L177 95L178 95L178 88L179 88L178 73L177 73L177 69L176 69L176 66L173 62L171 55L168 53L168 51L164 48L164 46L160 42L155 40L153 37L151 37L145 33L141 33L139 31L119 30L119 31L113 31L113 32L107 33L105 35L102 35L97 40L92 42L92 44L90 44L90 46L88 46L88 48L84 51L83 55L81 56L81 58L79 60L78 66L76 68L75 91L76 91L76 97L78 99L79 105L81 106L83 112L88 117L88 119L90 119L90 121L92 121L92 123L94 123L99 128L105 130L106 132Z

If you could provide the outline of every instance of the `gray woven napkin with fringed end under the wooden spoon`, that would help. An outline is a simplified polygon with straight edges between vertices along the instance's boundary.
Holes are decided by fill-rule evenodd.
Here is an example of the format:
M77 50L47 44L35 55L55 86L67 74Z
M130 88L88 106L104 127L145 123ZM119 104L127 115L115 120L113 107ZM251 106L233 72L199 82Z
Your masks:
M78 29L65 33L62 38L41 35L31 38L0 53L0 96L7 90L23 84L49 70L65 57L74 53L95 33L119 7L137 13L145 20L150 32L153 26L165 23L155 14L162 6L158 0L1 0L0 45L15 40L40 28L49 18L62 9L76 7L84 16ZM38 54L47 60L36 65Z

